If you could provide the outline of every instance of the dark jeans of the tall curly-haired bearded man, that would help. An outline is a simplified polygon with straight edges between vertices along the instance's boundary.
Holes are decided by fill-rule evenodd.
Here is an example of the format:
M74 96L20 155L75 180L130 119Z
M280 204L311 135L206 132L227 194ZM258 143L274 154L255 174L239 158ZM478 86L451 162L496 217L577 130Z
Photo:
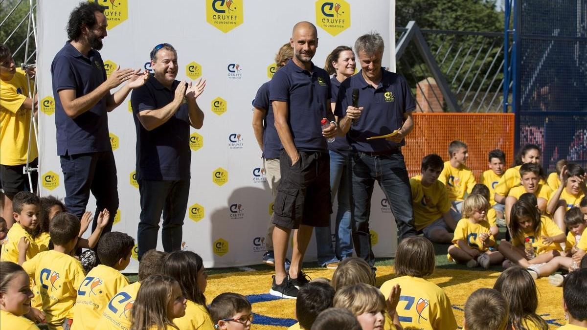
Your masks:
M110 212L110 219L102 234L112 230L118 210L118 179L112 151L60 156L60 161L68 212L82 218L91 192L96 197L92 232L104 208Z

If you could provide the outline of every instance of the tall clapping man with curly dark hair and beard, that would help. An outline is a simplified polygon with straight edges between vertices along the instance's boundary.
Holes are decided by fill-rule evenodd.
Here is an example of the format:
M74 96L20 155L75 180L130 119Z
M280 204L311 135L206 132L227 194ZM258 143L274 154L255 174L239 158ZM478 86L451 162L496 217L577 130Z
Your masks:
M119 205L107 113L124 102L131 89L144 85L149 78L146 71L120 68L106 78L98 50L107 36L107 25L103 6L82 2L69 16L69 41L51 64L65 206L69 213L81 218L91 191L96 197L92 231L100 211L110 211L104 232L111 230ZM116 93L110 93L124 82L127 83Z

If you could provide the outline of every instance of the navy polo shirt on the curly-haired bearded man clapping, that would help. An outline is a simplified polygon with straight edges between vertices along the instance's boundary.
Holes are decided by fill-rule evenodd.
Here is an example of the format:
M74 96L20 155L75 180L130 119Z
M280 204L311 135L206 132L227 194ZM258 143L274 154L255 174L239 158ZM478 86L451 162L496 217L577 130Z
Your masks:
M51 63L51 76L55 97L58 155L112 150L108 136L106 97L102 97L95 106L75 119L65 114L59 99L60 90L73 89L76 97L81 97L106 81L106 71L100 53L92 49L86 57L68 41Z

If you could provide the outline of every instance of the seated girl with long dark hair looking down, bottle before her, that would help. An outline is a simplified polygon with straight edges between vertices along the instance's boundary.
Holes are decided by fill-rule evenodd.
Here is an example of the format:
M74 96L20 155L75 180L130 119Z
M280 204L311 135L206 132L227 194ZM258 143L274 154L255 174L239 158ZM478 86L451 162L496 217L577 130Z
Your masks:
M509 260L504 262L504 266L512 263L520 265L531 272L532 277L537 278L535 270L539 265L561 255L559 243L565 241L565 233L551 218L541 216L537 205L528 203L526 200L529 198L525 198L526 196L534 195L523 194L512 206L512 218L508 226L512 235L511 243L501 241L498 249ZM531 243L532 248L526 247L526 243Z

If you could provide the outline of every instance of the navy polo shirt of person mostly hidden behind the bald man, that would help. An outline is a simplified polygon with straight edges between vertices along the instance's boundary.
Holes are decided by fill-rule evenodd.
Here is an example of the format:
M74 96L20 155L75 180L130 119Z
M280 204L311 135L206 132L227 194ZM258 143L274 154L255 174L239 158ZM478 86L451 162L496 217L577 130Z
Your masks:
M275 116L273 115L273 107L269 102L269 82L264 83L259 87L257 96L253 101L253 106L259 109L265 109L267 114L263 119L263 154L264 159L279 158L279 150L281 150L281 140L275 129Z

